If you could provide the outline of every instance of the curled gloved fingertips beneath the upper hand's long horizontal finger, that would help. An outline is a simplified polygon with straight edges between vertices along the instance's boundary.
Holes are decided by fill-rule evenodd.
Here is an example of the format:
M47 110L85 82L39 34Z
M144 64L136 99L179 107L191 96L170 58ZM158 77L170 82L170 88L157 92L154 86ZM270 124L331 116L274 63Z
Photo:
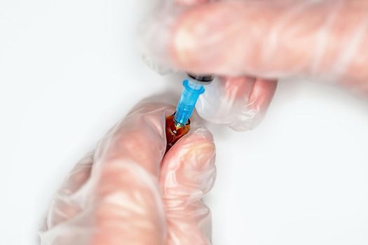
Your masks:
M214 80L196 106L198 114L212 123L237 131L252 130L264 117L276 89L274 80L246 76Z

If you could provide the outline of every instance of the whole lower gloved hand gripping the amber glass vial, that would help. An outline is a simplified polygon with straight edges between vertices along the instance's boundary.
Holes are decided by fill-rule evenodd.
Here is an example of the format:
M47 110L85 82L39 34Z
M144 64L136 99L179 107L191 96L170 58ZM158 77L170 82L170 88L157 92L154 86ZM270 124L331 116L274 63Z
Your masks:
M210 244L212 135L194 126L164 156L172 112L144 104L108 132L55 195L41 244Z

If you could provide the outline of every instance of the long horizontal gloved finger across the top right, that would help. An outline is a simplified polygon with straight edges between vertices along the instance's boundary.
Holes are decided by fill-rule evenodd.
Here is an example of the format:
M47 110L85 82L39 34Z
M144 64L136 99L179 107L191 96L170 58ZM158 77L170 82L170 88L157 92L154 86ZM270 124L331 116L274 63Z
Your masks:
M367 78L367 2L280 2L219 1L184 11L173 61L193 73Z

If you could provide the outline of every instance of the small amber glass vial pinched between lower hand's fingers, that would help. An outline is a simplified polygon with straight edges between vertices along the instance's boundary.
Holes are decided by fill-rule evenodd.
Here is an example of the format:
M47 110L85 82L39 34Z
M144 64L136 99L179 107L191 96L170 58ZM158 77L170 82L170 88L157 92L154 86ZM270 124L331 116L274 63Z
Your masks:
M166 118L166 152L177 143L185 134L188 134L191 129L191 121L189 120L186 125L177 125L174 120L175 113L172 116Z

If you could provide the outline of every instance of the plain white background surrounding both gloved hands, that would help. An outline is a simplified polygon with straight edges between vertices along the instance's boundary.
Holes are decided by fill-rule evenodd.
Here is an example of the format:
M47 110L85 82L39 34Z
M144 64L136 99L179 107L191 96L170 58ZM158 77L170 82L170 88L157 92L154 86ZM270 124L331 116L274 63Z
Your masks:
M74 163L139 100L177 96L175 76L139 59L142 6L0 0L0 244L38 244ZM214 244L368 244L367 109L338 87L292 80L257 130L208 125Z

